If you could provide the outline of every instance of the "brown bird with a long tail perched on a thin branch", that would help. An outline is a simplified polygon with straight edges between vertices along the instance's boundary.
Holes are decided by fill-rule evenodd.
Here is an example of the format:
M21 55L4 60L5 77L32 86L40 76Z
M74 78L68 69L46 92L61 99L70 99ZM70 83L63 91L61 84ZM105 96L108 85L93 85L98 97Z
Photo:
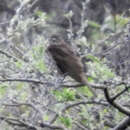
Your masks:
M51 54L59 71L62 74L69 75L77 82L87 85L92 93L96 95L95 91L88 84L82 59L73 51L71 46L57 35L53 35L50 38L50 42L47 51Z

